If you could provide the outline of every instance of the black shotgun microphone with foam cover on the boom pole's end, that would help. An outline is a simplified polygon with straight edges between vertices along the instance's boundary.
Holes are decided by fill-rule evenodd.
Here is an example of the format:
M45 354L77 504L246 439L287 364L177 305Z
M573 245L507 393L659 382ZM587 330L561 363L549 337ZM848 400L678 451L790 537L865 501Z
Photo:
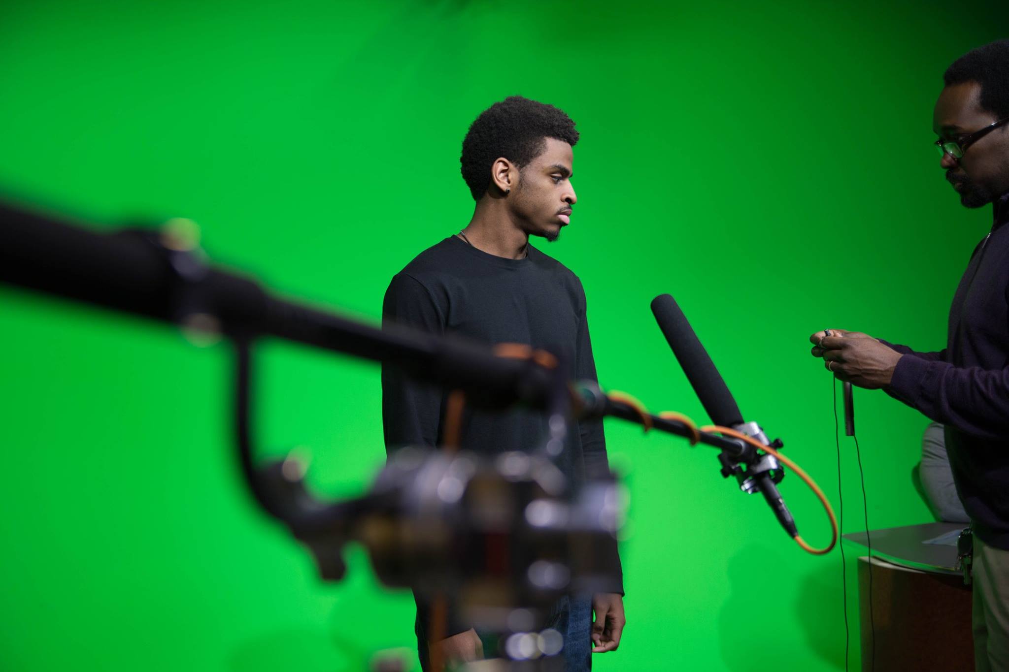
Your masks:
M656 296L652 301L652 313L655 314L659 328L666 337L673 355L683 368L683 373L690 381L690 386L700 399L708 417L716 425L732 427L764 445L771 445L756 422L743 421L743 414L740 413L736 399L733 398L725 381L718 374L707 351L680 310L680 306L676 304L676 300L669 294ZM775 441L774 445L779 447L781 444ZM736 456L727 455L725 451L721 452L718 456L722 464L721 475L725 478L735 476L740 488L746 493L760 491L774 511L778 522L785 528L785 532L791 537L798 536L792 514L789 513L775 486L784 477L778 460L769 453L758 454L753 449L747 450L750 448L747 444L744 444L743 448L744 451ZM746 464L746 469L740 465L740 461Z

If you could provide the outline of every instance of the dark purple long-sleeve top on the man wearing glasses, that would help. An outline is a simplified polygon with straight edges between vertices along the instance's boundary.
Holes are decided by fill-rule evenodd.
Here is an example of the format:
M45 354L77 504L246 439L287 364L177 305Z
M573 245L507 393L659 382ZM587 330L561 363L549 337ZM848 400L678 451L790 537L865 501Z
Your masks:
M900 358L887 392L945 425L954 481L975 532L1009 550L1009 194L974 250L945 349ZM886 343L886 342L884 342Z

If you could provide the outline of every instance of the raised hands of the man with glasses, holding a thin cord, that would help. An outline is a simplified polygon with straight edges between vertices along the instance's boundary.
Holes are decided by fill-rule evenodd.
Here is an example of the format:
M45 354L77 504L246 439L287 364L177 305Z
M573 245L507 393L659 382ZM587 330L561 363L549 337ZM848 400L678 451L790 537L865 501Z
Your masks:
M867 390L889 385L902 357L861 331L826 329L812 334L809 341L814 344L812 356L823 358L823 366L834 378Z

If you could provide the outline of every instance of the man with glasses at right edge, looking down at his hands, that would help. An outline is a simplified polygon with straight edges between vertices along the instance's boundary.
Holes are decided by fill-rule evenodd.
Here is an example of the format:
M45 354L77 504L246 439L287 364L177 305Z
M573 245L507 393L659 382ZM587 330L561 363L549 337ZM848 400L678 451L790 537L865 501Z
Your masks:
M974 528L976 668L1009 672L1009 40L965 54L943 81L932 117L939 165L966 208L994 208L954 295L945 349L843 329L810 341L836 378L943 423Z

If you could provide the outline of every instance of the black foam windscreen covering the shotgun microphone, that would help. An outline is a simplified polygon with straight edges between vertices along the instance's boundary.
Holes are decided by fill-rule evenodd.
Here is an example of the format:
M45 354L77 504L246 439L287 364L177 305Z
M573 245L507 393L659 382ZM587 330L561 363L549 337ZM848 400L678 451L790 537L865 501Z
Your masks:
M736 399L676 300L660 294L652 301L652 312L711 421L723 427L742 424L743 414Z

